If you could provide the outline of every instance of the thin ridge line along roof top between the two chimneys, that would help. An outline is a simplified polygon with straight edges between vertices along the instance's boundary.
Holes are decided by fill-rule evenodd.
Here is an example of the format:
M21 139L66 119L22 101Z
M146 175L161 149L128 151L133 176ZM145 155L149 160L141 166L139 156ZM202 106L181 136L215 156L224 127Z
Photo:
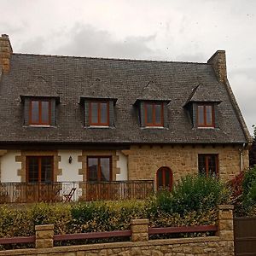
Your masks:
M160 63L183 63L183 64L202 64L209 65L207 62L193 62L193 61L163 61L163 60L137 60L137 59L125 59L125 58L103 58L103 57L86 57L86 56L74 56L74 55L41 55L41 54L23 54L13 53L12 55L28 55L28 56L43 56L43 57L57 57L57 58L73 58L73 59L90 59L90 60L106 60L106 61L135 61L135 62L160 62Z

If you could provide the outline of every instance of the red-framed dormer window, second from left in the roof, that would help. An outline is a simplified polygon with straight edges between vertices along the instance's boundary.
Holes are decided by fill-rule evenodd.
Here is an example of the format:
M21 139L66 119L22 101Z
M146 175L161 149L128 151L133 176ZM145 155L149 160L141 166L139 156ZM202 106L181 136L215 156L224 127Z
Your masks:
M89 108L90 125L108 126L109 125L109 103L90 102Z

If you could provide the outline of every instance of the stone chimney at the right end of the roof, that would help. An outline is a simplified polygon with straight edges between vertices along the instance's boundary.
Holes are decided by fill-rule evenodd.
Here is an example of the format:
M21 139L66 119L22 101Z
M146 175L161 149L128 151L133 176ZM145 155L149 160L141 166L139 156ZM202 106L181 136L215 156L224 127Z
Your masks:
M223 83L227 79L226 55L224 50L217 50L207 61L211 64L218 78L218 82Z

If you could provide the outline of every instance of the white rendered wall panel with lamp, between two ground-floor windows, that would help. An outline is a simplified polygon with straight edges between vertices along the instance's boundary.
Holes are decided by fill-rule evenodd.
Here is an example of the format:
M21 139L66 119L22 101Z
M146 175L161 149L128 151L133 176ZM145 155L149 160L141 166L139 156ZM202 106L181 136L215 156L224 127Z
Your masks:
M57 177L58 182L83 181L83 175L79 175L79 169L82 169L82 163L79 162L81 150L59 150L58 155L61 156L59 168L62 169L62 175ZM69 164L68 159L72 157L73 161Z

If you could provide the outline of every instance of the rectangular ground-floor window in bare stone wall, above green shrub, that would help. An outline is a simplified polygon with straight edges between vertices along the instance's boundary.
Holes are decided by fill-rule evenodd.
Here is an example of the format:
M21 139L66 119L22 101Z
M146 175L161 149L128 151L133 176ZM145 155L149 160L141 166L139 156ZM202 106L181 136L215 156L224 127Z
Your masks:
M206 177L217 177L218 154L198 154L198 171Z

